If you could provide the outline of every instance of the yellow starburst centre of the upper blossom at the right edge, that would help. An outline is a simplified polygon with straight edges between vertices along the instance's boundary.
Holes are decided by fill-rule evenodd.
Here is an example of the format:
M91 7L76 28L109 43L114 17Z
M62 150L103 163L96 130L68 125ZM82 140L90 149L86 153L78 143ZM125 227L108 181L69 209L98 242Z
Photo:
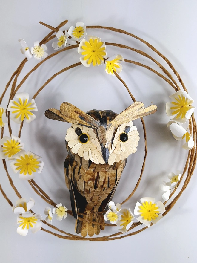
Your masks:
M177 114L176 119L181 116L181 119L185 117L186 112L189 110L190 100L188 100L183 95L178 95L178 97L175 97L175 101L172 102L174 107L170 107L170 109L173 109L172 112L173 115Z

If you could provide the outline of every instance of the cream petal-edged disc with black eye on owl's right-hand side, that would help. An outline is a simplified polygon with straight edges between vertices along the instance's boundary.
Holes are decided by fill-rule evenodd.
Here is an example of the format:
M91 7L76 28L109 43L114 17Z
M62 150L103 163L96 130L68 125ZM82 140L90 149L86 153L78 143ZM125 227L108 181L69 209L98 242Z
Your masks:
M121 124L116 130L108 164L118 163L130 154L135 153L137 151L138 141L139 133L136 126L133 126L133 122L130 121Z

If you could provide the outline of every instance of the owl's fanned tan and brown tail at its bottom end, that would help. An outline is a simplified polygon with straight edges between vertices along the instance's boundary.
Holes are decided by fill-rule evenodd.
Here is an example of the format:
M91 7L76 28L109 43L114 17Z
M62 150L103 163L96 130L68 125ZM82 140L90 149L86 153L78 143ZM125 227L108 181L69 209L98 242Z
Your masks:
M105 228L99 224L104 223L104 218L103 215L98 214L98 212L91 211L87 212L86 215L78 215L78 217L84 219L84 221L77 219L75 225L75 232L77 234L81 233L81 236L87 236L87 234L88 236L98 235L100 230L104 230Z

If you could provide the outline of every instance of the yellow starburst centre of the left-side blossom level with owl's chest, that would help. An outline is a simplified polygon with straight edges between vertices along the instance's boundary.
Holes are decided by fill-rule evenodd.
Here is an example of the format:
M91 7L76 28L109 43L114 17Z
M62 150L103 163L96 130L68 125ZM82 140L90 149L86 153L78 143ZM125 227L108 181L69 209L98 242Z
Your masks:
M33 158L32 155L25 155L25 157L21 156L20 159L16 160L17 163L14 165L18 166L16 170L20 170L20 174L24 173L24 175L29 175L32 174L33 172L36 172L36 169L39 168L38 164L39 162L37 161L36 158Z

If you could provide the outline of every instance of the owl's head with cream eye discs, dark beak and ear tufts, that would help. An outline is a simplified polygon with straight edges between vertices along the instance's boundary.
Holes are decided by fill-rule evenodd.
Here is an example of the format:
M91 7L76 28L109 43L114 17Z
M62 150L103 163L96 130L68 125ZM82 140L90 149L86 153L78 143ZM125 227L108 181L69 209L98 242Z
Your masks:
M72 124L66 135L67 149L71 154L78 154L96 164L113 165L137 150L139 134L132 120L156 111L156 105L144 108L143 103L135 102L120 114L110 110L85 113L64 102L60 111L48 109L45 116Z

